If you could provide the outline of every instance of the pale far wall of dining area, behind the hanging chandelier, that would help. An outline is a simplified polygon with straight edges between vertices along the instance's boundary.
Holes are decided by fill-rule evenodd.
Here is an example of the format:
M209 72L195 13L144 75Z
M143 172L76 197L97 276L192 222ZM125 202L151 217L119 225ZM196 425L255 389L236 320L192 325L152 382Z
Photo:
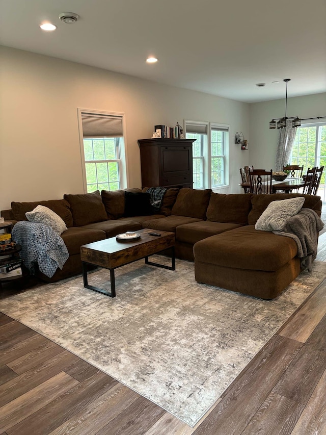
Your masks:
M279 130L269 130L269 121L285 115L285 98L253 103L250 105L249 113L250 164L256 169L274 169ZM288 98L287 116L299 118L326 116L326 93ZM326 118L320 121L326 122Z

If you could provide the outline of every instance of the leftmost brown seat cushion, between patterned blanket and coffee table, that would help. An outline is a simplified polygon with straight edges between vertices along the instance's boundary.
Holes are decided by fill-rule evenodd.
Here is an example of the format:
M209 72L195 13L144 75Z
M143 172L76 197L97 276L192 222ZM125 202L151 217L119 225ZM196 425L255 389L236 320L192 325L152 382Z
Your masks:
M105 239L105 233L96 229L71 226L60 237L65 242L69 255L75 255L80 254L80 246Z

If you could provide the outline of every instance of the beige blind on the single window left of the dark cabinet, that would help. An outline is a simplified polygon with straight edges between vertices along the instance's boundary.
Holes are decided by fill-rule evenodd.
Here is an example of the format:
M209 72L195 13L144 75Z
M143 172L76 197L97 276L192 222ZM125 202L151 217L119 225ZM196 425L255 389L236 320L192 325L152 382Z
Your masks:
M84 138L122 137L122 116L82 112Z

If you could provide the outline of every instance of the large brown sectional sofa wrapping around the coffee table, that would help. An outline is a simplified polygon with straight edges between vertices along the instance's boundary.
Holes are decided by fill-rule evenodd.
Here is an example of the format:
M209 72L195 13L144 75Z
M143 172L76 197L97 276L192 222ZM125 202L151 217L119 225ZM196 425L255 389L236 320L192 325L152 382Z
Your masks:
M147 188L143 189L146 192ZM63 238L69 259L51 277L55 282L82 271L80 246L126 231L151 228L176 235L176 257L195 261L198 282L271 299L300 273L293 239L257 231L255 223L274 200L304 196L303 207L321 214L319 196L302 194L219 194L210 189L169 189L158 214L144 215L135 207L125 216L125 192L141 189L67 194L60 200L12 202L1 215L14 223L38 204L56 212L66 223Z

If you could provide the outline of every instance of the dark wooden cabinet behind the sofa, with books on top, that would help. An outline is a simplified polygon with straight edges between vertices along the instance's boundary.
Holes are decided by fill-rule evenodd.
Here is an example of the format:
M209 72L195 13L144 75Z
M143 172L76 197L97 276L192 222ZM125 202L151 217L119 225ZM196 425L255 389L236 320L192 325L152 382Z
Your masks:
M196 139L139 139L143 187L193 187Z

